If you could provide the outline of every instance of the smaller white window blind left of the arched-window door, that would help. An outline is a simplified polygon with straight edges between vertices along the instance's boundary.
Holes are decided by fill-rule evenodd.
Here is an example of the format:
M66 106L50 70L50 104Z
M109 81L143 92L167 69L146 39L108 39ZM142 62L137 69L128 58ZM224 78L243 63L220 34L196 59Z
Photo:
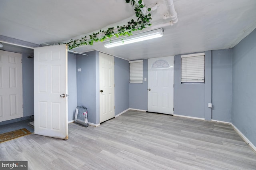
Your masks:
M130 83L143 83L143 60L129 61Z

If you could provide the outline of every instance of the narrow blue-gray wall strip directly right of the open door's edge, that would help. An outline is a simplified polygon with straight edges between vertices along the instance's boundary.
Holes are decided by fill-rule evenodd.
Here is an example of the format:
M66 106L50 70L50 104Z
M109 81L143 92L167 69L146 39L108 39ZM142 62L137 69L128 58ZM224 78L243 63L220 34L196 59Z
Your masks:
M68 121L75 119L76 96L76 55L68 53Z

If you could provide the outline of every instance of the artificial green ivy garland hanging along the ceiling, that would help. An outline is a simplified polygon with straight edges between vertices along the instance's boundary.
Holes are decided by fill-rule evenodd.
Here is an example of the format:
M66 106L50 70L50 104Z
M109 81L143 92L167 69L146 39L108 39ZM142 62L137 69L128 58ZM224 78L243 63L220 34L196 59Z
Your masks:
M138 0L138 3L136 3L136 1L137 0L125 0L126 3L131 2L131 5L135 7L134 11L136 17L138 17L137 21L134 21L134 19L132 19L127 23L127 25L116 26L116 28L108 28L108 30L106 31L100 30L100 32L88 35L88 37L82 37L80 40L70 40L70 42L66 43L68 45L68 48L73 49L81 45L92 45L93 42L103 42L107 38L111 38L114 36L116 36L117 38L119 36L130 36L132 35L132 31L142 30L146 28L146 26L150 26L150 21L152 20L152 18L151 14L148 12L151 11L151 8L147 8L146 14L142 14L141 8L144 8L146 6L145 4L142 4L142 0Z

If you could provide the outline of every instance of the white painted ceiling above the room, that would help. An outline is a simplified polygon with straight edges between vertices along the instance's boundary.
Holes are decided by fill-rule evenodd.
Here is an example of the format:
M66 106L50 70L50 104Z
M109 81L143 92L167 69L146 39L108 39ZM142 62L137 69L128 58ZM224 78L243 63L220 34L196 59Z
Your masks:
M73 49L98 50L128 60L232 48L256 28L256 0L174 0L178 23L164 26L166 0L144 0L152 26L163 28L154 40L105 48L104 43ZM125 0L0 0L0 35L26 42L54 44L137 19ZM145 30L145 31L146 31Z

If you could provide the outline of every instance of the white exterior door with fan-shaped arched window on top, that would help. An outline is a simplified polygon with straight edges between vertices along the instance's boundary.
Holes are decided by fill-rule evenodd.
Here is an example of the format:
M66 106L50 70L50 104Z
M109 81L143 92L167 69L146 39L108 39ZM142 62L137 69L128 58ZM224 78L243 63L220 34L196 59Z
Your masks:
M174 56L148 59L148 111L173 115Z

